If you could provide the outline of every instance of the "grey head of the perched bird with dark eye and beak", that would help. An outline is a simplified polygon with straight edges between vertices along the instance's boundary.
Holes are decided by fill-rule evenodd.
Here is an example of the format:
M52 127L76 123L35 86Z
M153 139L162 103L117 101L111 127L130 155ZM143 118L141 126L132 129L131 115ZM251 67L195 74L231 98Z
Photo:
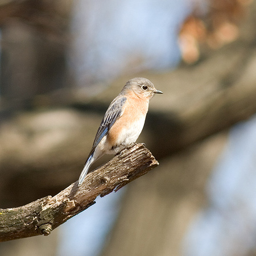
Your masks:
M139 98L147 98L150 100L155 93L161 93L160 90L156 90L154 84L150 80L143 77L135 77L126 82L126 85L122 89L122 93L126 94L129 91L134 92Z

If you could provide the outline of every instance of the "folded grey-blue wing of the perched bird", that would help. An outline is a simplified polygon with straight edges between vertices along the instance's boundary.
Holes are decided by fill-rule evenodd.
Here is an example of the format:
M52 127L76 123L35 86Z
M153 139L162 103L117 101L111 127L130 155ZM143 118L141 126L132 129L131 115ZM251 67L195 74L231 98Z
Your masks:
M100 127L98 128L96 137L93 142L92 150L90 154L98 146L98 143L106 136L110 128L114 125L115 121L122 115L123 104L125 104L126 97L117 97L109 105L108 110L106 111L104 118L101 121Z

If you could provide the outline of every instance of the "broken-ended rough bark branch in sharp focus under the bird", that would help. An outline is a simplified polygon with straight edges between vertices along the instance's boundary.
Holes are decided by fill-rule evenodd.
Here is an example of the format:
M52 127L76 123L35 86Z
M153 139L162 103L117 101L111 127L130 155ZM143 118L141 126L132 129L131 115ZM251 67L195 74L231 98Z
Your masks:
M97 196L117 191L156 166L158 162L151 152L143 144L136 144L88 174L81 187L75 182L56 196L47 196L22 207L0 209L0 241L39 234L47 236L93 205Z

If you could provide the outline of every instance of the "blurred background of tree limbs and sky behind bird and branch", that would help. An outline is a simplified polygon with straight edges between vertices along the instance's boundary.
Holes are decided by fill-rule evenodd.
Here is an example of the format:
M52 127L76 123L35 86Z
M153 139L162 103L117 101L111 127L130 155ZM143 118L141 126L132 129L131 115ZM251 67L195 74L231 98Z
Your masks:
M48 237L0 243L0 255L256 255L255 10L253 0L0 0L0 208L78 179L127 80L164 92L138 139L159 167Z

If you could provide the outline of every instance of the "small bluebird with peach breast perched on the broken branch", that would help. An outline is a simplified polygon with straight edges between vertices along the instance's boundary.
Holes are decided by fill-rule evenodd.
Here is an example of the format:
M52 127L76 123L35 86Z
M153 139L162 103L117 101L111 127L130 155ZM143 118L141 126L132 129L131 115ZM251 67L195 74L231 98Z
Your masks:
M132 146L144 126L148 104L154 94L162 94L148 79L135 77L126 82L110 103L96 133L92 149L79 177L82 184L90 166L104 154L118 154Z

